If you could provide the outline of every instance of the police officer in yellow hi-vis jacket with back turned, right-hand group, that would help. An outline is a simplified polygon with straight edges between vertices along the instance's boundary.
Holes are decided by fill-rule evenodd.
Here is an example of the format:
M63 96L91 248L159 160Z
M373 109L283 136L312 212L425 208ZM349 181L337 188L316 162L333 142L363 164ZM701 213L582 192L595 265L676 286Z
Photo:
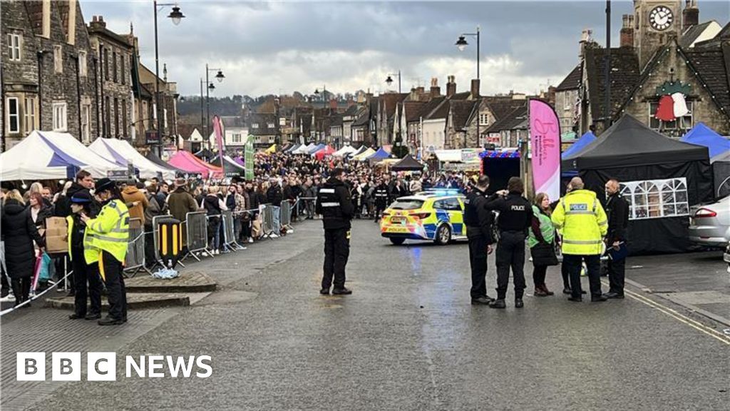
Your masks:
M603 237L608 230L608 219L596 193L584 189L583 179L570 181L572 191L561 198L553 211L553 224L563 233L563 264L570 274L570 301L583 301L580 288L580 268L585 260L591 301L606 301L601 293L601 254Z

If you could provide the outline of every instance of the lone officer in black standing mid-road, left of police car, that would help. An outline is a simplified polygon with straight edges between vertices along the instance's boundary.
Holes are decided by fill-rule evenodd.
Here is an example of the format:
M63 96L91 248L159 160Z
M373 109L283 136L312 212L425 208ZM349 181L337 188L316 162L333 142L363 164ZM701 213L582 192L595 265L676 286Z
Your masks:
M315 205L317 214L322 215L324 225L324 275L320 294L329 294L334 276L332 294L352 294L345 288L345 265L350 256L350 220L355 206L350 200L350 190L345 186L345 172L335 168L323 184Z

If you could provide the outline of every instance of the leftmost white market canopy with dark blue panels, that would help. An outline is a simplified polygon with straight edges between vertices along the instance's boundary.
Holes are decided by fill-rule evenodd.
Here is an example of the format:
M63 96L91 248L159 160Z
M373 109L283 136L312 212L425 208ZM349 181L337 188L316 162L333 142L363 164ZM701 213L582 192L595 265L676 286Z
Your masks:
M0 154L0 179L52 180L73 178L86 170L94 178L125 167L107 161L64 132L31 132L23 141Z

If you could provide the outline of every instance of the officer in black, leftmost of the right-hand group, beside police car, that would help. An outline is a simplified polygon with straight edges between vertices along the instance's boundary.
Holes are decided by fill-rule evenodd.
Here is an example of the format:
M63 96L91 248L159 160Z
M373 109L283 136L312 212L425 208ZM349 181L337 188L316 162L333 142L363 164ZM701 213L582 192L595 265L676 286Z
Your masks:
M466 195L464 224L466 236L469 238L469 263L472 266L472 304L491 303L493 298L487 295L487 255L492 253L493 214L487 210L485 197L489 188L489 177L480 176L473 186L472 192Z

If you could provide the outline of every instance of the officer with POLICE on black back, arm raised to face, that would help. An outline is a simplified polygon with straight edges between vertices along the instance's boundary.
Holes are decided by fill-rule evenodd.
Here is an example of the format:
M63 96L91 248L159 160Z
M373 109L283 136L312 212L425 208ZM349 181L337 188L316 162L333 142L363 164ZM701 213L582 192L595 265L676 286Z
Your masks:
M510 267L515 279L515 307L522 308L522 295L525 291L525 239L532 222L532 206L522 196L525 185L517 177L507 181L507 190L491 195L485 207L499 211L499 243L497 243L497 299L489 306L504 309L504 297L510 282Z

